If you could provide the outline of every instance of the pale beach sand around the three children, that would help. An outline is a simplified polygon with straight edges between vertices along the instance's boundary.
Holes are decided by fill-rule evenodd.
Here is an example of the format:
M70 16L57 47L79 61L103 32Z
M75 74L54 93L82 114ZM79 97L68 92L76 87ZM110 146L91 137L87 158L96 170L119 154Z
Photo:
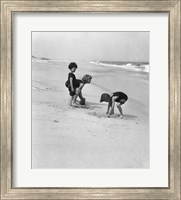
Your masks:
M149 168L149 74L77 61L86 108L68 107L67 61L32 63L32 168ZM122 91L124 118L107 118L102 93Z

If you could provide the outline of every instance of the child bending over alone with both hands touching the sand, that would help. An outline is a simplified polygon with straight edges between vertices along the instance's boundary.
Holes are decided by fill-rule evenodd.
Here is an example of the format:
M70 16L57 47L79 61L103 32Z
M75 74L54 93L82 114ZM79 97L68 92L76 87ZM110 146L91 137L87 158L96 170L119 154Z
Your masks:
M114 114L114 106L116 102L117 108L120 112L120 117L123 118L123 111L122 111L121 105L124 104L127 100L128 100L128 96L124 94L123 92L114 92L111 95L107 93L103 93L101 95L100 102L103 102L103 101L108 102L108 107L107 107L107 112L106 112L108 117Z

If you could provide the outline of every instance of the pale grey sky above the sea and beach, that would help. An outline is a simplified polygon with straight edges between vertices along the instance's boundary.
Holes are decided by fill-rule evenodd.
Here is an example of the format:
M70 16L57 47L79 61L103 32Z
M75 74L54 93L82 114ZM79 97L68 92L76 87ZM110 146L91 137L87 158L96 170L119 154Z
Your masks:
M32 32L37 57L149 62L149 32Z

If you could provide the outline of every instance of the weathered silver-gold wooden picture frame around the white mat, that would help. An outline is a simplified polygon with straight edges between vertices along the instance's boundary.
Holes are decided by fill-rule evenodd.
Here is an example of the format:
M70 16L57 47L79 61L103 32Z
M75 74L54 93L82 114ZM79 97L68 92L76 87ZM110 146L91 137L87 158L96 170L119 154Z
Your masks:
M169 187L14 188L13 55L14 12L169 13ZM1 199L181 199L180 190L180 0L178 1L5 1L1 0Z

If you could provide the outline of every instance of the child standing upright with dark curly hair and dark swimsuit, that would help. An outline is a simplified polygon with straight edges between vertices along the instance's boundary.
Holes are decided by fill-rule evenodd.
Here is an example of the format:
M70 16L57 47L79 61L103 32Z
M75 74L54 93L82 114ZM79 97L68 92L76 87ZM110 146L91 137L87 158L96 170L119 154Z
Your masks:
M75 62L71 62L68 66L70 72L68 74L67 87L70 94L69 106L75 106L75 98L76 98L76 76L75 71L77 69L77 64Z

